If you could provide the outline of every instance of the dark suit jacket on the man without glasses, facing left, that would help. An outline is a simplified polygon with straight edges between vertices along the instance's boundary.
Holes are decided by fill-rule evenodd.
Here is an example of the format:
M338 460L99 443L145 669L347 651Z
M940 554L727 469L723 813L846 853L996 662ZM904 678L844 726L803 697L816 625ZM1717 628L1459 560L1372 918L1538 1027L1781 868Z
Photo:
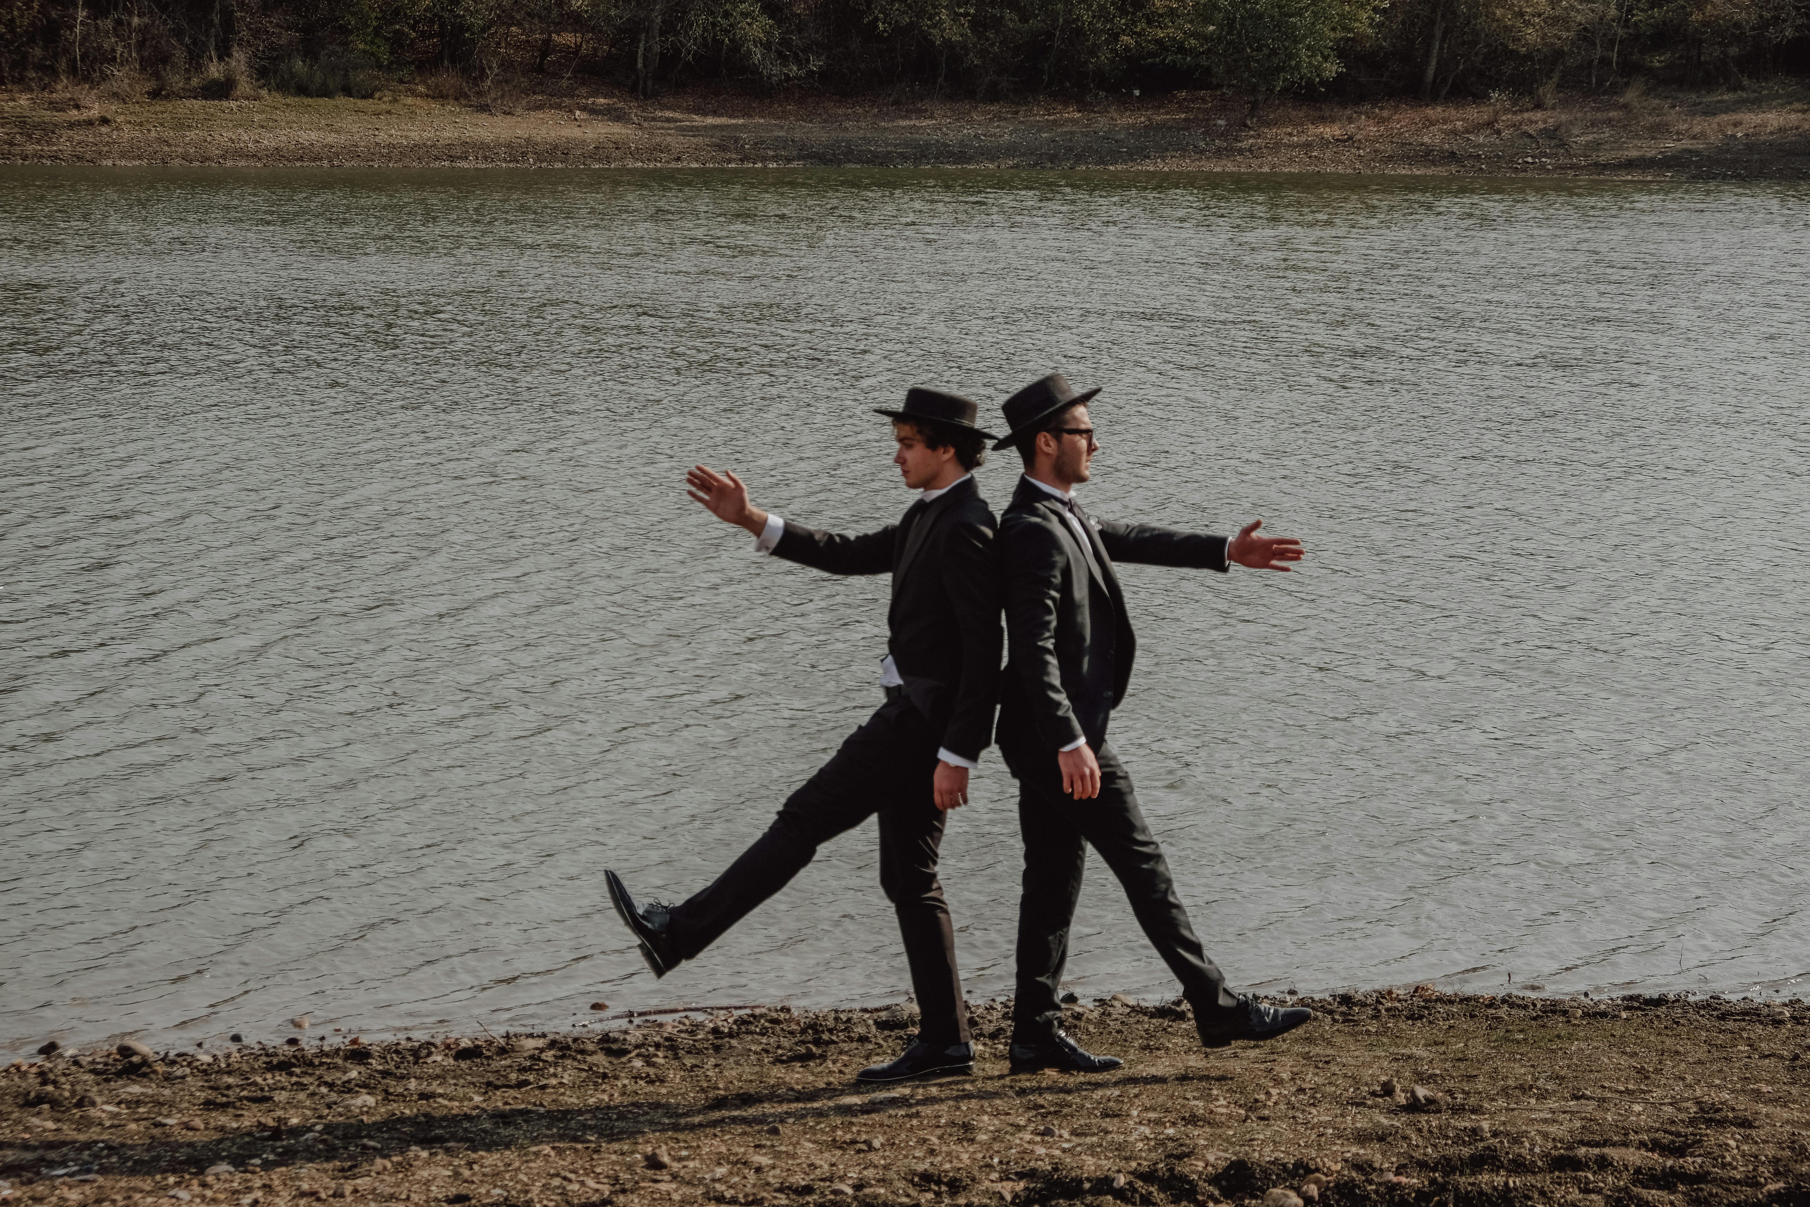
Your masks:
M999 566L994 514L972 478L867 536L786 521L776 557L831 574L892 574L887 651L943 749L977 760L999 699Z

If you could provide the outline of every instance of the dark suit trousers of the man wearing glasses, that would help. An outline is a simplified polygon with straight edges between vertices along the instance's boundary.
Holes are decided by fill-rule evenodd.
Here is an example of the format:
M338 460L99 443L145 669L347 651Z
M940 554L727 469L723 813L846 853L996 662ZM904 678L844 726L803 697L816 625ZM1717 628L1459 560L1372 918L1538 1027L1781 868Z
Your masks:
M1088 843L1100 852L1131 901L1144 936L1182 983L1195 1013L1238 1004L1225 975L1195 936L1182 899L1175 896L1169 863L1144 822L1131 775L1100 742L1100 794L1075 800L1062 793L1062 771L1041 742L1006 744L1001 753L1019 780L1019 831L1024 836L1024 896L1019 903L1017 1003L1012 1030L1017 1039L1041 1039L1062 1021L1059 1001L1068 930L1081 898Z

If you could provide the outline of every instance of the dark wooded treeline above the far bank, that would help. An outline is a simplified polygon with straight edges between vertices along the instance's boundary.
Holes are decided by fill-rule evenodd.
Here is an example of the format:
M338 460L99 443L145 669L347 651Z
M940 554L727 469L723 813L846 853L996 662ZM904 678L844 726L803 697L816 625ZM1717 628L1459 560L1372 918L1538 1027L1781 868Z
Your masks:
M1745 87L1810 72L1810 0L0 0L0 83L369 96L699 80L997 100Z

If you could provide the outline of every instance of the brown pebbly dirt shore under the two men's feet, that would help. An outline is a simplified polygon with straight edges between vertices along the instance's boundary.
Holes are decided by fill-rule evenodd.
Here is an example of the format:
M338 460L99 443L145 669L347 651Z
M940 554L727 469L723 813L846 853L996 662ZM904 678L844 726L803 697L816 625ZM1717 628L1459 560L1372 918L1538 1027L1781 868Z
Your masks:
M1309 1026L1213 1053L1182 1006L1075 1006L1126 1059L1097 1077L1008 1075L994 1003L974 1077L881 1093L853 1075L901 1050L903 1006L87 1046L0 1075L0 1200L1810 1203L1801 1001L1303 1001Z

